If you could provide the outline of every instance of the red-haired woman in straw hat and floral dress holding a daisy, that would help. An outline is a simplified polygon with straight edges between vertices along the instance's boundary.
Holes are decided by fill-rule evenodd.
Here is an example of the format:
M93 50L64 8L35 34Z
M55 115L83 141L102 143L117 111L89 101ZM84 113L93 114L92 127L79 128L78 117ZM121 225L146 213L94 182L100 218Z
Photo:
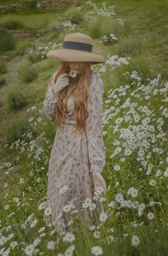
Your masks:
M86 221L85 199L95 196L97 186L102 185L106 193L101 175L105 166L103 81L90 68L91 64L105 60L91 52L92 39L73 33L65 36L61 50L50 50L47 54L61 61L60 69L50 80L42 108L42 115L56 120L58 125L49 160L46 201L52 215L44 214L46 225L51 220L58 232L67 229L70 208L78 209ZM98 206L94 199L92 202ZM95 218L94 211L90 214ZM86 225L90 227L91 223Z

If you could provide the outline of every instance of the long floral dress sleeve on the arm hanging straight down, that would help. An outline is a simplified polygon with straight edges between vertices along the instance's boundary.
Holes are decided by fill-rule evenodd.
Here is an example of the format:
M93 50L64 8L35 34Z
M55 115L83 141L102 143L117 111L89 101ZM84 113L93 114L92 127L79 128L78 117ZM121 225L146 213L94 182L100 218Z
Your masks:
M102 138L103 80L96 75L91 78L90 101L87 102L89 115L85 121L88 141L88 157L91 172L102 172L105 166L105 145ZM88 98L89 99L89 98Z

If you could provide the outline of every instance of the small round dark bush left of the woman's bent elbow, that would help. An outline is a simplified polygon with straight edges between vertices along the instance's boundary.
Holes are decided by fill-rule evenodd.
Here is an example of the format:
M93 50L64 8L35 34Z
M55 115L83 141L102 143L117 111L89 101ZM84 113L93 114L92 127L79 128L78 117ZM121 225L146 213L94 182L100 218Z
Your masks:
M23 107L28 103L22 93L14 87L7 89L6 100L9 106L15 109Z

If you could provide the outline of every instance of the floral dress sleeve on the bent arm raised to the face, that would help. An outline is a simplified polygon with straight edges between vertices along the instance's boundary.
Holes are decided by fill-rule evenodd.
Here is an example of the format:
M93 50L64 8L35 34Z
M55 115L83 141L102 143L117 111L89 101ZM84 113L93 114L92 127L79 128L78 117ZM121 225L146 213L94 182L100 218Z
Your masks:
M48 90L46 93L45 100L43 102L43 107L42 107L42 115L53 122L55 120L55 113L57 111L57 101L60 96L60 92L57 94L53 93L53 86L54 86L54 78L55 75L57 74L54 73L52 78L51 78L51 85L49 83Z

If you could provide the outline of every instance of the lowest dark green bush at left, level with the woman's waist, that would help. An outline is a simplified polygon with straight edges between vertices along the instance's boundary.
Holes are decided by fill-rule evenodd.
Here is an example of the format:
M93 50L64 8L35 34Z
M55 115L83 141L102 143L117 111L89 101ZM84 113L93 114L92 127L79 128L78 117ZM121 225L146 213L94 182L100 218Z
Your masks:
M24 119L18 120L17 122L12 122L9 129L6 130L6 139L9 144L17 141L18 139L22 140L22 135L26 132L33 132L30 124ZM27 138L28 139L28 138Z

